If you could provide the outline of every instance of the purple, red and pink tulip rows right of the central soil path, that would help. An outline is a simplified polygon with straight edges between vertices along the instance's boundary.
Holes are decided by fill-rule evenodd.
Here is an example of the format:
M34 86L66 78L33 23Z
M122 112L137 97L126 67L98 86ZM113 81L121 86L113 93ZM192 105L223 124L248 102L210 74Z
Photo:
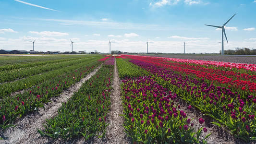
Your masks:
M201 129L207 129L192 132L194 127L187 115L173 103L176 98L199 109L244 142L256 140L255 64L125 57L150 72L123 80L125 130L134 141L198 143Z

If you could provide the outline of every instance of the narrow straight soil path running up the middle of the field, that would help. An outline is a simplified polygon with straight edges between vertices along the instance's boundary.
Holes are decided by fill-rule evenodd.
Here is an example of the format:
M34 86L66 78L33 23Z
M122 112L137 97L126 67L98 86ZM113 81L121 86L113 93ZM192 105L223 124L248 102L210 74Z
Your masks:
M121 80L118 76L116 60L114 67L114 81L112 87L114 88L113 93L110 95L110 112L108 113L107 122L110 125L107 127L106 142L107 144L128 144L125 138L126 134L123 128L122 118L122 98L121 98Z

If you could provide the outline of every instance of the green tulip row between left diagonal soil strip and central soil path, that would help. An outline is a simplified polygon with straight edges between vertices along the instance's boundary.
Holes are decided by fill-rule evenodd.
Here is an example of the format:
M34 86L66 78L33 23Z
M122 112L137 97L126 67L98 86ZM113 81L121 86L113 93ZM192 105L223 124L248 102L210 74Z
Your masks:
M53 139L61 137L64 140L78 136L83 136L85 140L104 136L112 73L113 66L103 65L68 102L62 104L56 117L47 120L45 130L38 132L43 136Z

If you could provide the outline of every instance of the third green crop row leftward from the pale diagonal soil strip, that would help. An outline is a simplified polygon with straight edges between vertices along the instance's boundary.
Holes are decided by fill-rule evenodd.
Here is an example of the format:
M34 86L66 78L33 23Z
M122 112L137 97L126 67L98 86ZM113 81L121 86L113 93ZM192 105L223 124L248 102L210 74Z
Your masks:
M73 65L75 63L83 62L85 60L88 60L88 57L85 57L83 59L75 59L75 60L64 60L61 62L53 62L45 65L38 65L35 67L27 68L27 69L14 69L11 71L1 71L0 72L0 83L13 81L18 78L24 78L27 76L49 72L51 70L60 69L69 65Z

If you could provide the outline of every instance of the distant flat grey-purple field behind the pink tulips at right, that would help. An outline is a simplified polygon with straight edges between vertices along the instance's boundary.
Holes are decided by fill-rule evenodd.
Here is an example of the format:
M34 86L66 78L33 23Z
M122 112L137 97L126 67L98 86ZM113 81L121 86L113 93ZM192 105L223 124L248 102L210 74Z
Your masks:
M189 60L210 60L210 61L223 61L223 62L234 62L234 63L248 63L256 64L256 56L220 56L220 55L145 55L152 57L165 57L165 58L176 58L176 59L189 59Z

